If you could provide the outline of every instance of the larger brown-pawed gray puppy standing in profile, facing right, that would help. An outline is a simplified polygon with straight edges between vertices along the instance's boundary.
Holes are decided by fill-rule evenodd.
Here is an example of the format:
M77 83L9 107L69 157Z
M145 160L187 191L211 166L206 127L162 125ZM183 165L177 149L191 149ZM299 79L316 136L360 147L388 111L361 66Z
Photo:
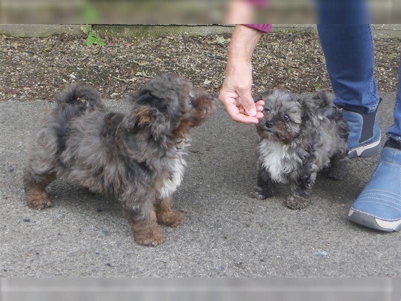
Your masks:
M56 177L114 195L142 245L164 241L158 223L177 226L173 193L185 167L189 129L214 110L213 97L183 77L163 74L129 96L127 114L106 108L97 91L74 83L35 135L24 175L28 206L52 205Z

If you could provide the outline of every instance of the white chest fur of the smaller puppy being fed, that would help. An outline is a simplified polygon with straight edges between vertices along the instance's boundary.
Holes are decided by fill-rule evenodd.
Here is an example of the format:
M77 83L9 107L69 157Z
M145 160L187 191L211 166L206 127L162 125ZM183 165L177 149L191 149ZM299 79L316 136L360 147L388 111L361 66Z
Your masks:
M293 171L294 165L289 160L288 145L264 139L258 144L259 162L273 181L287 183L286 175Z

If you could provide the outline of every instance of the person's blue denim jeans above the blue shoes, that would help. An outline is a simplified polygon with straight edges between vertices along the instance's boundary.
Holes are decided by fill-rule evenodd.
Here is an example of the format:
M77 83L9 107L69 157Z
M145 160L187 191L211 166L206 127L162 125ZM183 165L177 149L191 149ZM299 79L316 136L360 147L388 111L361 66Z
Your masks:
M327 24L336 20L333 13L341 13L341 10L329 11L325 3L327 2L322 0L318 2L320 22L324 24L319 24L317 29L336 96L334 102L337 105L363 107L366 112L372 112L379 103L379 96L373 75L374 49L371 27L368 24ZM359 4L364 9L354 10L355 20L368 20L364 1L359 1ZM387 135L401 140L401 58L394 123L388 128Z

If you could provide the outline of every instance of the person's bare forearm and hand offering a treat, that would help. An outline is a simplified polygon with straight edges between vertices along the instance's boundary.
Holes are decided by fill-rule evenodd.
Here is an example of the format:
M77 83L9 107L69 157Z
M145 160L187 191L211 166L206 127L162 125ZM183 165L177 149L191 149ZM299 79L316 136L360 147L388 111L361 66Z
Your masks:
M256 29L237 25L231 38L226 76L219 99L231 119L242 123L258 123L262 118L263 101L254 103L251 58L262 33ZM241 105L247 115L240 113Z

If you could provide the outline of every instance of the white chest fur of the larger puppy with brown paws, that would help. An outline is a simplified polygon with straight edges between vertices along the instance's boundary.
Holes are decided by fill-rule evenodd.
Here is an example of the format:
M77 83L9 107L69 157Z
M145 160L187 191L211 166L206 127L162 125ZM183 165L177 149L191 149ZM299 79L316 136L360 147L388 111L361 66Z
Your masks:
M169 176L163 180L163 186L158 191L161 199L169 197L181 184L186 166L184 146L186 145L176 149L173 158L169 159L167 166L170 171Z

